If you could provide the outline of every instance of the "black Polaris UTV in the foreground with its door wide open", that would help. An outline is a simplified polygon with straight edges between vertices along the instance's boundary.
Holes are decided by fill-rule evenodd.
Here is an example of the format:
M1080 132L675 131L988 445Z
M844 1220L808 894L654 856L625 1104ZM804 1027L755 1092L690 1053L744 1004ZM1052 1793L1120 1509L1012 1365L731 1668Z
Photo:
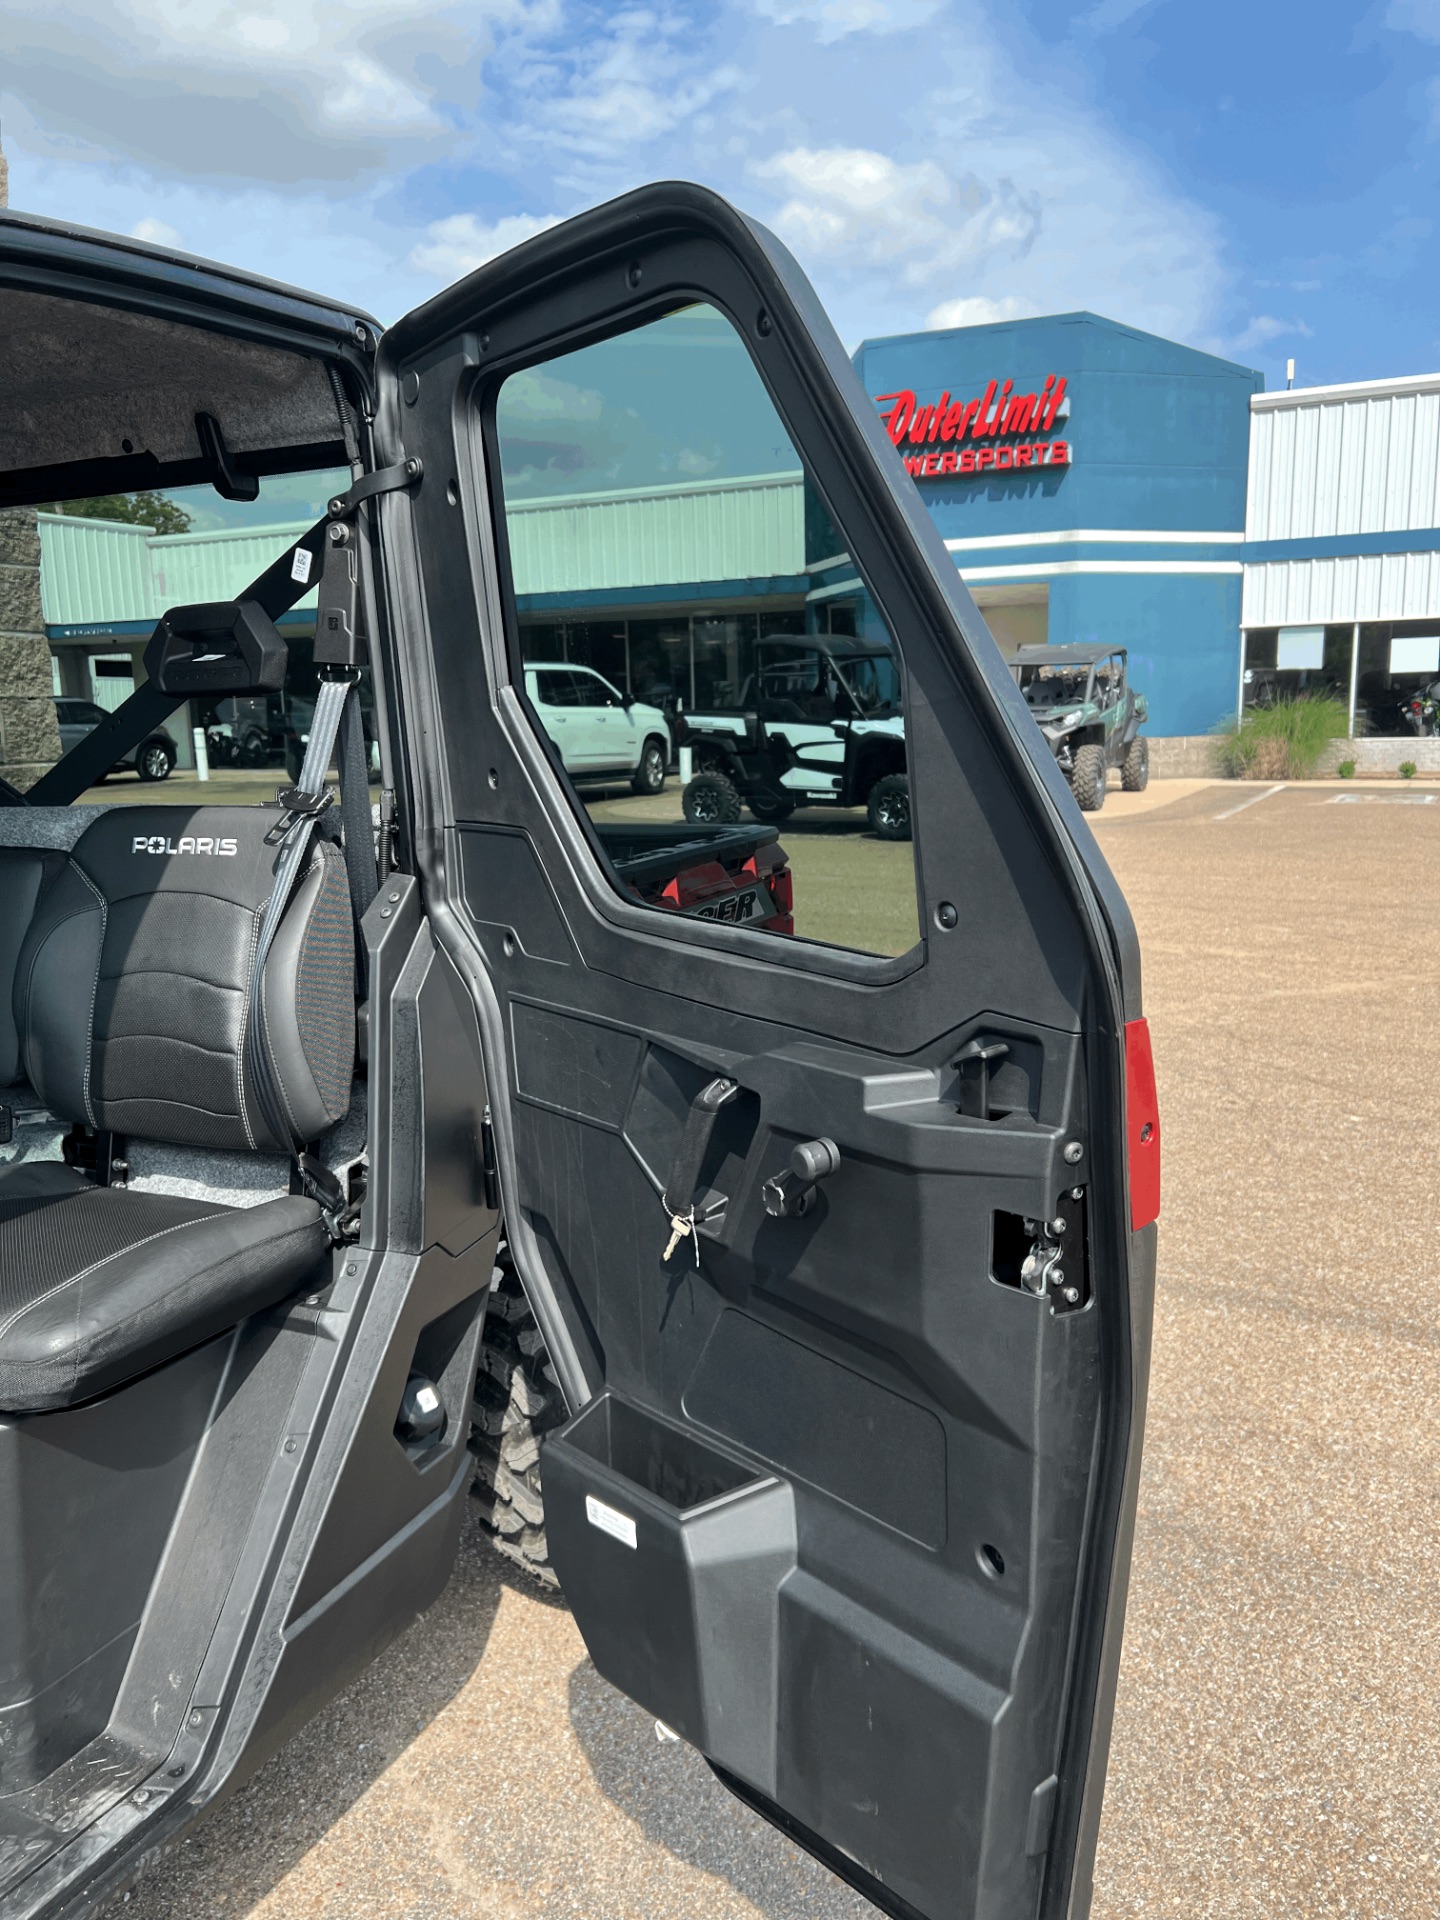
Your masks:
M0 793L4 1920L234 1791L436 1599L476 1478L599 1672L879 1908L1083 1914L1160 1204L1139 950L793 259L649 186L382 334L12 213L0 323L8 593L36 507L324 476ZM691 524L687 420L616 438L655 338L670 411L728 382L720 492L780 501L755 593L803 484L895 636L900 956L789 933L774 828L591 816L526 691L601 564L655 599L626 516ZM728 528L678 574L707 614ZM271 695L315 703L278 797L83 799Z

